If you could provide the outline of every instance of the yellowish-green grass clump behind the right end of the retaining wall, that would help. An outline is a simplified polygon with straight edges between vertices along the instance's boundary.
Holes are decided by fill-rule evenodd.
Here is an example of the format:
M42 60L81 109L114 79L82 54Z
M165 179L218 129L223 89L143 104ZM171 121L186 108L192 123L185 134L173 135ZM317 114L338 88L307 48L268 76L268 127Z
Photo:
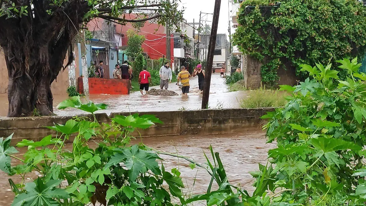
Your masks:
M261 108L261 107L283 107L287 103L288 96L285 92L278 90L266 90L260 88L249 91L249 97L240 102L242 108Z

